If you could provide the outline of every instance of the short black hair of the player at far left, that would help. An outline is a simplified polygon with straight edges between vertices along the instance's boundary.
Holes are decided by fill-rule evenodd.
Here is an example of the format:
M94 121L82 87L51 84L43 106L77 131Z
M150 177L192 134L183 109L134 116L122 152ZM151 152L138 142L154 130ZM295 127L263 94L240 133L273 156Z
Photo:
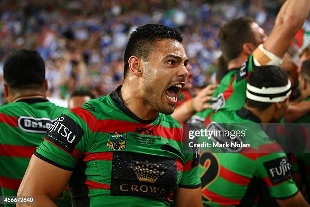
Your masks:
M12 89L42 87L45 79L44 61L37 51L14 50L4 61L3 77Z

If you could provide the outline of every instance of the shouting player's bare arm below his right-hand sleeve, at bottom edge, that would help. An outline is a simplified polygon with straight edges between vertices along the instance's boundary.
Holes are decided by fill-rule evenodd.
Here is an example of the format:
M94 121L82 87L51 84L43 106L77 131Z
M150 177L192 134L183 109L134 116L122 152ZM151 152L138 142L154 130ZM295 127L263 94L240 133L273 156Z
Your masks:
M178 207L191 207L191 206L203 206L201 198L201 187L190 188L177 188L175 197L175 206Z

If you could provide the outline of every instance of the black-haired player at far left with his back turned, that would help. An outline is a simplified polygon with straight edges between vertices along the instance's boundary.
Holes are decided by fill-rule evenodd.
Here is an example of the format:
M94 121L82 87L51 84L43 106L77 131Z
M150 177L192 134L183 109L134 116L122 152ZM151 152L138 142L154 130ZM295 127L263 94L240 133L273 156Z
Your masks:
M66 108L46 99L45 65L36 51L13 51L5 59L3 76L9 103L0 106L0 187L3 196L16 196L34 150ZM69 206L69 192L62 194L63 189L56 203Z

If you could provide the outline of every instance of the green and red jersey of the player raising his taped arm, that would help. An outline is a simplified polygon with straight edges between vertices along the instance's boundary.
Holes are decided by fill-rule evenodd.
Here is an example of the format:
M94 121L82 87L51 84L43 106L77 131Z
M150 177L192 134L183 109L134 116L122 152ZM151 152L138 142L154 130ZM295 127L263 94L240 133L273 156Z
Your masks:
M239 68L229 70L213 93L213 97L216 97L213 109L197 112L190 122L210 123L211 114L217 110L238 110L243 107L246 100L247 82L254 66L251 54Z

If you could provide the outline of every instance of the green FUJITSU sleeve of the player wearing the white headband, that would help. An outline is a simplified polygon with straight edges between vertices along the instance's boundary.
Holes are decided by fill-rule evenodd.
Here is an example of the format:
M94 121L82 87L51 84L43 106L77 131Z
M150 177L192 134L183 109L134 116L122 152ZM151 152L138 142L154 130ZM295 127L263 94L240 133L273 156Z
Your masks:
M264 181L272 197L283 199L298 192L291 177L291 164L285 153L259 154L256 167L256 176Z

